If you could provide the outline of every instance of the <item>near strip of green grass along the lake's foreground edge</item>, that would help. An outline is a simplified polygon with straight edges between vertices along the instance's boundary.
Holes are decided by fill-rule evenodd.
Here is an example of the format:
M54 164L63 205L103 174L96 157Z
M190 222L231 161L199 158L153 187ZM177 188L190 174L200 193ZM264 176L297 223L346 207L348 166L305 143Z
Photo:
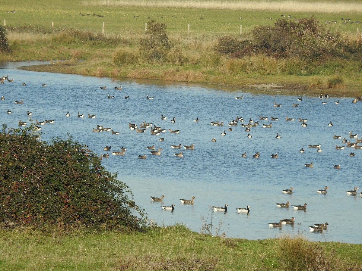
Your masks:
M182 225L142 234L3 229L0 244L2 270L362 270L361 245L232 239Z

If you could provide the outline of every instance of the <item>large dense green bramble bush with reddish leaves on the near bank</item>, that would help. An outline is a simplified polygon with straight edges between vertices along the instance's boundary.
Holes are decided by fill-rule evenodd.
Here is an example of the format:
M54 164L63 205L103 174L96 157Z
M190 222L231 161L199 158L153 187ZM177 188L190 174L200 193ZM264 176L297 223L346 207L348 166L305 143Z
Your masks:
M131 214L129 187L105 171L87 146L72 140L38 141L32 128L0 133L0 221L19 224L83 224L141 230Z

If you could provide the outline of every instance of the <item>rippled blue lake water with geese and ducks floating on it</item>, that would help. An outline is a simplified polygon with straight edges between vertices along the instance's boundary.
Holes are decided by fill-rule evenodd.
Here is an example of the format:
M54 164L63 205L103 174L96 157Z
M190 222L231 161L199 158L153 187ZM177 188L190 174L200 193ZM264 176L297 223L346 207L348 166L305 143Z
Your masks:
M0 62L1 76L14 78L14 82L0 85L0 120L9 127L18 127L19 120L28 121L26 112L33 112L35 122L54 119L54 124L42 126L42 139L67 138L86 144L98 155L109 153L102 165L117 172L118 178L130 186L135 203L158 225L183 223L196 232L203 224L212 224L211 233L228 237L264 239L283 235L302 235L313 241L339 241L362 243L362 216L359 213L362 197L348 195L346 190L361 187L362 150L347 147L345 137L351 142L349 132L362 135L362 102L352 103L352 98L318 96L255 94L249 89L232 89L215 85L139 80L124 78L100 78L69 74L30 72L20 66L40 64ZM42 63L43 64L43 63ZM26 86L22 86L22 83ZM47 86L43 87L45 83ZM100 89L106 86L106 89ZM122 90L114 87L122 86ZM323 95L328 90L323 90ZM108 99L108 96L114 99ZM125 99L125 95L129 99ZM147 99L147 95L154 99ZM243 95L243 99L235 96ZM24 100L15 104L14 100ZM338 101L335 104L334 101ZM327 101L323 104L323 101ZM273 103L282 104L274 107ZM292 104L300 104L293 107ZM7 114L7 110L12 114ZM70 116L66 117L69 111ZM84 118L77 117L83 113ZM96 115L89 119L87 116ZM161 115L167 120L161 120ZM244 122L228 126L236 116ZM268 120L260 120L260 117ZM286 117L294 121L286 121ZM175 117L176 122L172 123ZM199 122L194 119L199 118ZM279 118L271 121L271 117ZM259 125L245 131L241 124L249 119L259 120ZM308 119L302 127L299 118ZM166 129L159 135L137 133L129 128L129 122L152 125ZM221 122L213 126L210 122ZM332 121L333 126L328 126ZM262 124L272 123L271 128ZM111 127L119 134L92 132L98 125ZM29 124L28 124L29 125ZM232 131L228 131L232 128ZM170 133L169 129L180 130ZM221 133L225 130L226 135ZM252 138L248 138L248 133ZM281 138L275 138L276 134ZM334 135L342 136L334 139ZM164 141L159 141L159 138ZM216 142L211 142L215 138ZM171 145L181 144L184 157L174 154L179 149ZM194 144L194 150L184 145ZM322 152L308 145L321 144ZM161 148L161 155L151 155L147 146ZM337 150L336 145L345 146ZM359 144L361 145L361 143ZM121 147L125 155L111 155L103 151ZM303 148L304 153L299 150ZM247 157L241 154L246 152ZM257 152L258 159L253 158ZM277 152L278 158L271 158ZM354 157L349 156L351 152ZM146 154L146 159L138 155ZM313 167L304 164L313 162ZM340 169L333 165L340 164ZM328 186L327 194L318 189ZM294 188L292 194L283 189ZM362 192L362 189L357 190ZM150 196L161 197L163 202L152 202ZM191 199L193 205L182 204L179 198ZM289 208L275 203L290 202ZM294 210L292 205L307 203L306 211ZM161 205L174 204L174 210L162 210ZM212 211L210 206L228 204L227 212ZM235 208L251 206L250 213L238 213ZM294 226L270 228L268 223L295 217ZM311 232L313 223L328 222L322 232Z

